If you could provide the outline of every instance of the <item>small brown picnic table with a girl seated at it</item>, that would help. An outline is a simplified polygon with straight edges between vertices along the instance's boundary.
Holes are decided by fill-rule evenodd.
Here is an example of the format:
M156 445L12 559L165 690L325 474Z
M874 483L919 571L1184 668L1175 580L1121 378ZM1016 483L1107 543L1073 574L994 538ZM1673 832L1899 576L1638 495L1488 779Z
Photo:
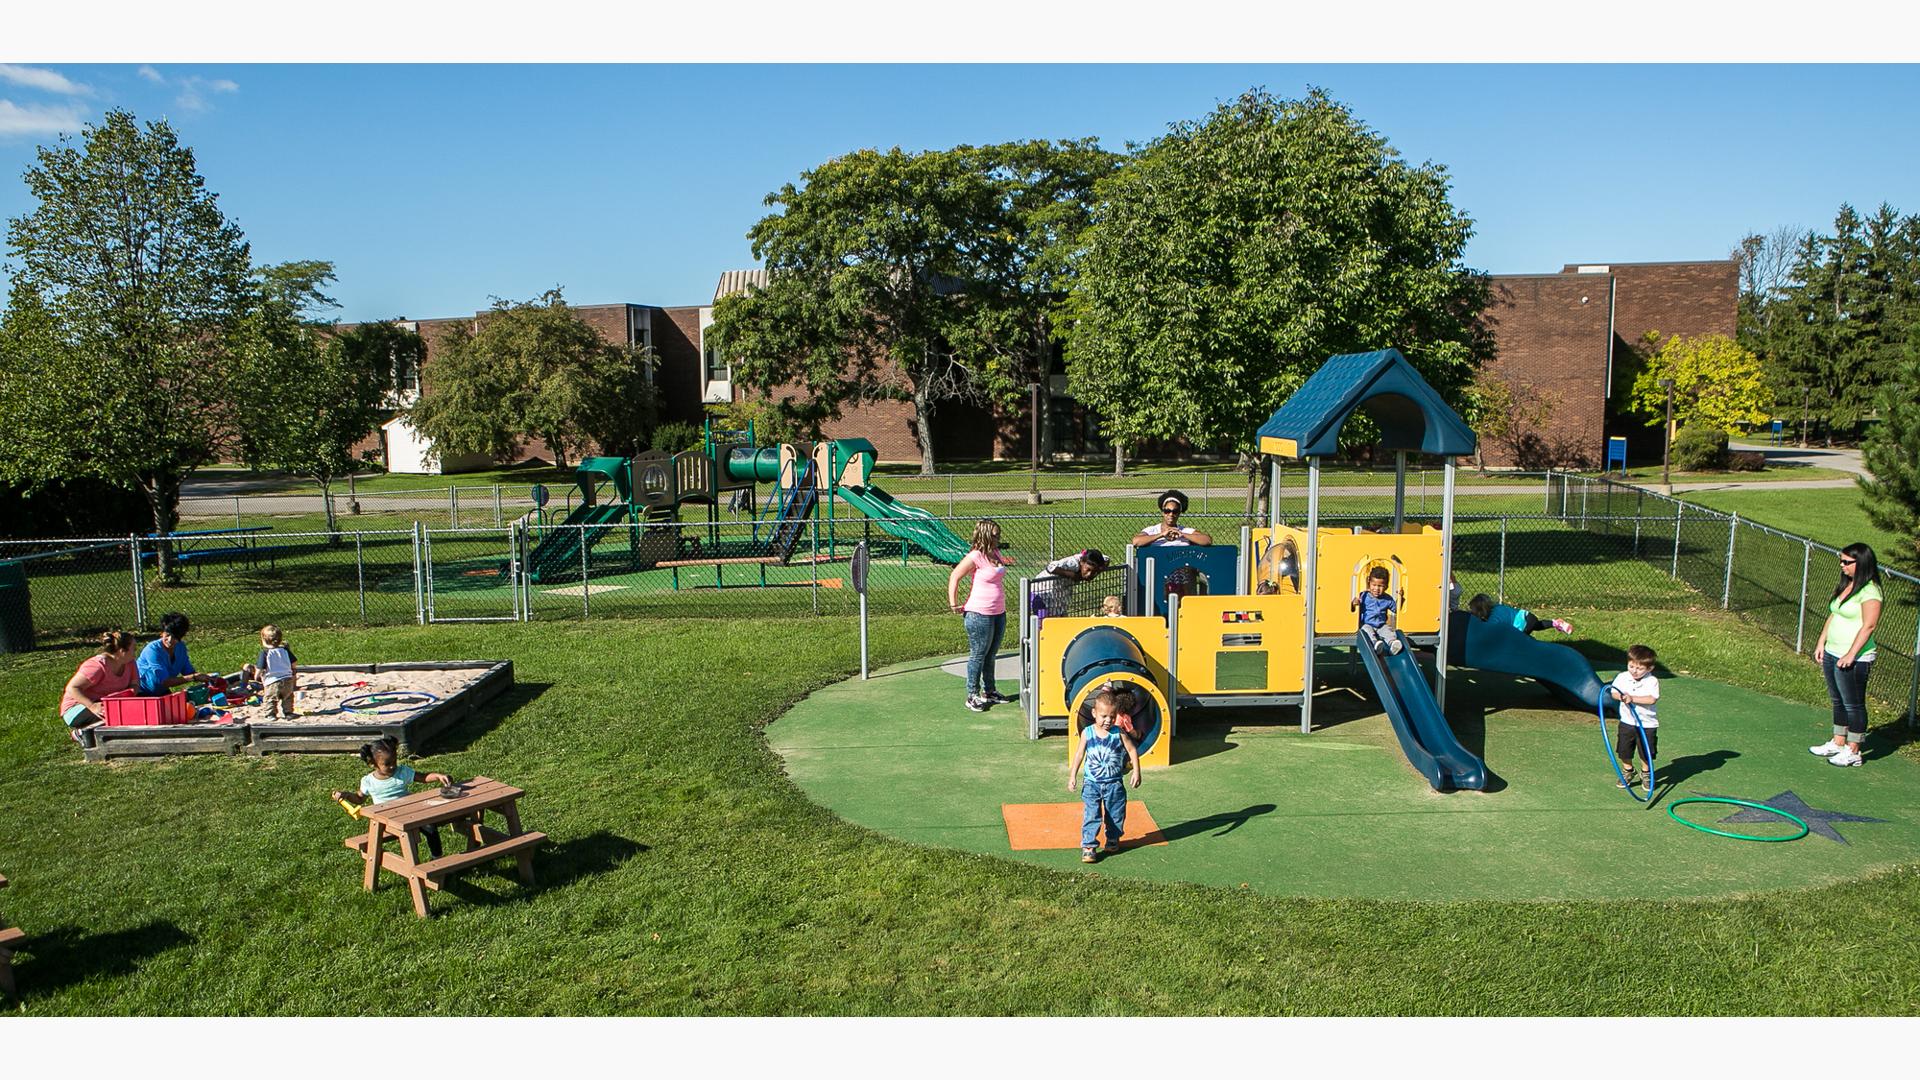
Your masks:
M463 794L455 798L442 796L442 788L428 788L361 811L367 832L365 836L348 836L346 846L357 849L367 861L363 888L372 892L382 867L394 871L407 878L413 913L426 919L426 890L438 892L445 878L480 863L511 855L520 863L520 880L534 884L534 847L547 834L520 830L518 801L526 792L488 776L474 776L461 788ZM486 811L497 813L507 830L488 826L484 822ZM455 832L467 838L467 851L422 863L420 832L449 822ZM388 840L397 840L399 851L386 851Z

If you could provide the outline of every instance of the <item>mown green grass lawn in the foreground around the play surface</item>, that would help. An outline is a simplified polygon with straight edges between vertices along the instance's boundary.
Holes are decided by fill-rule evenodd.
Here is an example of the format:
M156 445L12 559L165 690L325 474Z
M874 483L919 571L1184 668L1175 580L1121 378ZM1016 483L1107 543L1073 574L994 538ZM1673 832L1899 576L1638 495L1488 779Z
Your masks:
M1571 613L1596 636L1655 640L1676 671L1820 700L1811 665L1716 613ZM397 626L292 640L311 663L515 659L518 686L424 761L528 790L524 821L551 836L536 859L541 884L522 888L511 869L472 872L434 896L432 920L417 920L392 880L361 892L359 863L340 846L353 822L326 790L361 774L349 755L84 765L52 715L81 651L6 657L0 871L13 888L0 913L36 940L19 957L23 997L12 1009L1920 1011L1920 938L1903 930L1920 919L1912 865L1715 901L1290 899L1060 872L847 824L785 778L766 726L856 669L849 619ZM877 663L897 663L960 651L962 640L950 617L889 617L874 646ZM204 667L252 650L244 634L196 640ZM1139 913L1123 945L1089 949L1087 920L1112 911Z

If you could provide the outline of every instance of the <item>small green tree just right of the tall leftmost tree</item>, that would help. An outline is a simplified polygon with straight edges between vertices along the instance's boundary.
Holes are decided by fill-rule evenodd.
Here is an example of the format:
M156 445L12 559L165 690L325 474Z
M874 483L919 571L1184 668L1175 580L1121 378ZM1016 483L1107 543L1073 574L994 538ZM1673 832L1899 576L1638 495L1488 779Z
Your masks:
M334 532L332 486L353 473L353 446L384 419L396 367L424 356L420 336L396 323L334 332L319 315L336 307L328 261L257 271L261 302L250 315L240 442L250 465L313 477Z

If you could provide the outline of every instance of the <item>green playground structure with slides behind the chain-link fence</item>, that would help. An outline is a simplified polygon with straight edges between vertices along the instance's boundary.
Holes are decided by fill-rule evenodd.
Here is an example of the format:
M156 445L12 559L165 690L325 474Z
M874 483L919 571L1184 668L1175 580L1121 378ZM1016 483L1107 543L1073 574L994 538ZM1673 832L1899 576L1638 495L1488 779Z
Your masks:
M958 563L968 542L931 513L902 503L874 484L874 444L864 438L816 442L806 454L791 444L755 446L755 432L716 430L708 421L699 450L684 454L647 452L637 457L588 457L574 469L574 490L559 509L543 500L532 515L540 536L530 552L528 578L540 584L576 580L588 573L588 555L614 528L626 527L626 571L758 565L766 584L768 565L789 565L803 536L828 532L826 553L806 561L828 561L839 550L837 525L872 523L883 532L918 548L939 563ZM758 484L770 484L764 502ZM864 517L835 519L835 498ZM753 515L753 536L720 538L720 505L745 503ZM680 523L680 507L705 505L705 528ZM822 517L824 507L824 517Z

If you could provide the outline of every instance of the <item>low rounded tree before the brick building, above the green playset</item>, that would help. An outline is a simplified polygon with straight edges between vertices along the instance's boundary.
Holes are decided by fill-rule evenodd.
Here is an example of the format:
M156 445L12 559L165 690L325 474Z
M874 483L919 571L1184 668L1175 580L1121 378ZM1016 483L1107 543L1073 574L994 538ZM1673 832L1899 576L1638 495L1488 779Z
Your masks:
M659 411L651 357L607 342L559 288L495 300L478 329L455 323L436 344L407 419L442 455L507 459L528 438L555 465L593 446L632 452Z

